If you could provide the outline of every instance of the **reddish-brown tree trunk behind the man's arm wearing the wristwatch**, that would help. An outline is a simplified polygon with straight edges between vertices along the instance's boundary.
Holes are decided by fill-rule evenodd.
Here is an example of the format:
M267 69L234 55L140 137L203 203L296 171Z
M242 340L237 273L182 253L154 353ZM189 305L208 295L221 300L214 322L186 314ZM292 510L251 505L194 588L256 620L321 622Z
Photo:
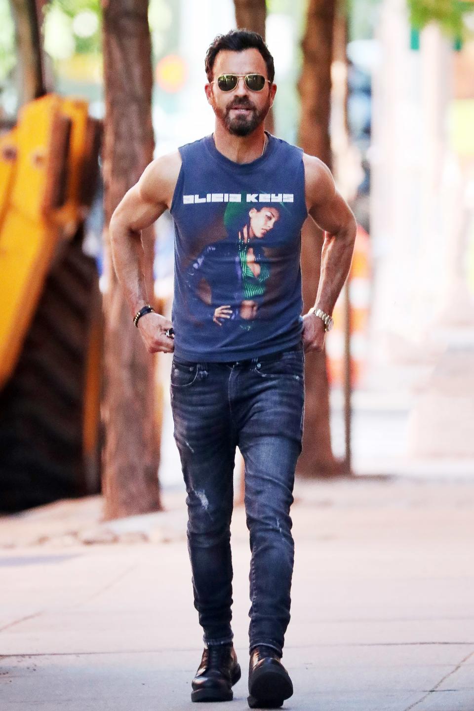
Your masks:
M305 153L318 156L331 167L329 137L330 70L333 58L335 0L309 0L303 48L303 68L298 82L301 124L298 141ZM303 226L301 270L304 312L313 306L318 290L324 235L308 218ZM329 476L338 471L330 442L329 386L325 353L306 357L306 405L303 451L298 474Z

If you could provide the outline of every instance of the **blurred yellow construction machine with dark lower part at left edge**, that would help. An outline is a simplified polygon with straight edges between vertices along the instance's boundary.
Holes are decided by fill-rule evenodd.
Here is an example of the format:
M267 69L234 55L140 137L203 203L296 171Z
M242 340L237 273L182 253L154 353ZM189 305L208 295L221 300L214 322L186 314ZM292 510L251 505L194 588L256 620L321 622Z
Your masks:
M100 488L102 306L82 250L100 125L46 94L0 135L0 511Z

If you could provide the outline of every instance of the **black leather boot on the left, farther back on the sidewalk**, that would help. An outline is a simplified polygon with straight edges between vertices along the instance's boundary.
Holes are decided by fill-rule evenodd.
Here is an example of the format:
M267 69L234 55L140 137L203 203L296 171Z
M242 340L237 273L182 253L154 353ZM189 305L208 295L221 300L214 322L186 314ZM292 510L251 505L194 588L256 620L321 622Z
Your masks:
M213 644L203 651L191 682L191 701L232 701L232 686L239 678L240 667L232 644Z

